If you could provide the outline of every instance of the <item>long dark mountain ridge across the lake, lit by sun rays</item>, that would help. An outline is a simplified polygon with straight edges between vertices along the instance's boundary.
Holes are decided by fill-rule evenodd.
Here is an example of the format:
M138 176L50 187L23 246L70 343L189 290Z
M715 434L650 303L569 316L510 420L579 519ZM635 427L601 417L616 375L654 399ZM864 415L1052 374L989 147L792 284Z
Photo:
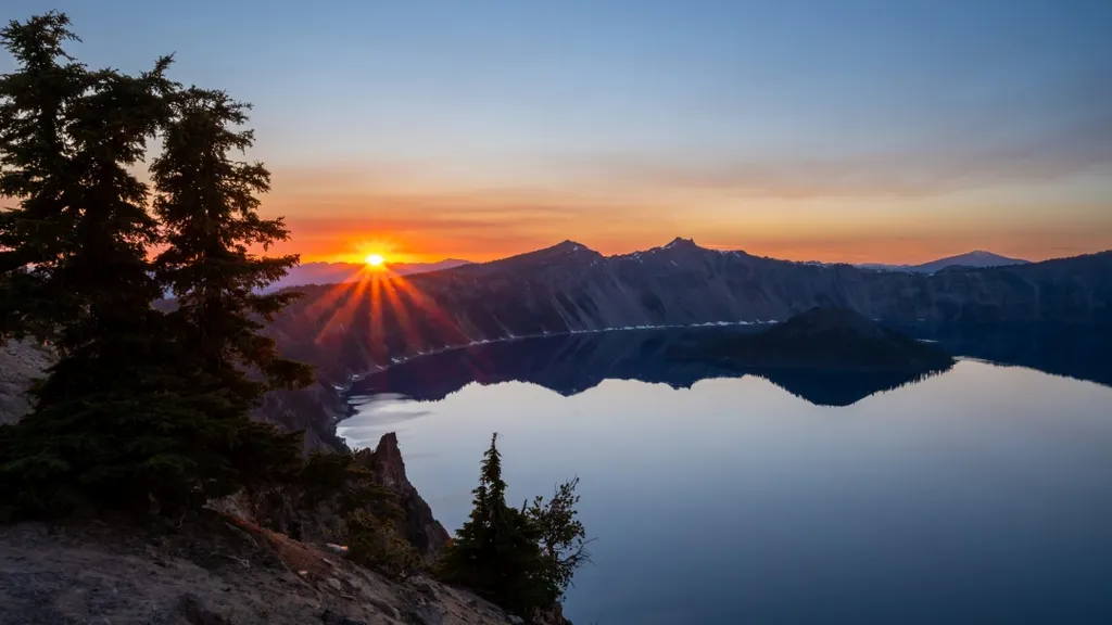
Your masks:
M270 331L288 356L346 384L400 358L483 340L785 320L816 306L886 323L1112 325L1112 252L926 275L776 260L678 238L610 257L564 241L375 289L299 290L307 296Z

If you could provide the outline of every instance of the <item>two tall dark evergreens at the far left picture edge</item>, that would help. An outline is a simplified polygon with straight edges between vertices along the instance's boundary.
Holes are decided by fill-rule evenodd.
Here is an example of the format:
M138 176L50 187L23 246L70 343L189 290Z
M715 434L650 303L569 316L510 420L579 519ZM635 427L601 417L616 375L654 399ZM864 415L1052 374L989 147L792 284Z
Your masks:
M19 200L0 218L0 331L47 339L61 357L33 391L34 411L0 433L3 504L34 513L78 493L162 489L188 463L166 462L172 427L161 421L219 400L179 396L187 387L150 306L160 288L147 248L159 234L131 169L167 119L170 59L136 77L90 71L62 49L77 39L68 24L48 13L0 32L18 65L0 79L0 185Z

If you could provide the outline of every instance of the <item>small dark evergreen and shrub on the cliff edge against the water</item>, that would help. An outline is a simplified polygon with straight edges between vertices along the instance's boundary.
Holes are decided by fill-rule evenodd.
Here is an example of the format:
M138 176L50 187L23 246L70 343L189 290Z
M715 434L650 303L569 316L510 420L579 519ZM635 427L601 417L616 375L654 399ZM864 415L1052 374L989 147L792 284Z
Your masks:
M507 506L497 439L495 434L483 456L471 514L438 573L445 582L529 615L556 603L575 568L586 562L583 526L573 509L577 480L559 487L547 506L543 498L535 499L535 510ZM579 553L569 553L576 545Z

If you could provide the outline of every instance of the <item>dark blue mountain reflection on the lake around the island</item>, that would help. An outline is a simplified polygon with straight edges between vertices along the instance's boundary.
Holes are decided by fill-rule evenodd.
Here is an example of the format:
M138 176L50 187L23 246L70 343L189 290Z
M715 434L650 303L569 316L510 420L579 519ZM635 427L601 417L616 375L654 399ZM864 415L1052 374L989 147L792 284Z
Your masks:
M947 326L901 330L939 341L954 356L1019 365L1112 386L1112 331L1085 327ZM668 347L695 333L752 329L622 330L523 338L423 356L356 383L353 395L391 393L438 400L470 383L526 381L569 396L605 379L632 379L689 388L707 378L755 375L820 406L850 406L876 393L914 384L941 371L731 370L667 356ZM705 337L704 337L705 338Z

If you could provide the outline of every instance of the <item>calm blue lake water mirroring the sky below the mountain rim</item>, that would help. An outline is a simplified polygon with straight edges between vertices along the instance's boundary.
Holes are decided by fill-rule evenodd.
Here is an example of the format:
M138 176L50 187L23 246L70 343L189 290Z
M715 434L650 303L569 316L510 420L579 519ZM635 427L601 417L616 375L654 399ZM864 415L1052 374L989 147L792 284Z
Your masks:
M774 384L654 340L440 355L340 434L397 431L449 530L495 430L512 500L578 475L578 625L1112 623L1112 388L972 359Z

